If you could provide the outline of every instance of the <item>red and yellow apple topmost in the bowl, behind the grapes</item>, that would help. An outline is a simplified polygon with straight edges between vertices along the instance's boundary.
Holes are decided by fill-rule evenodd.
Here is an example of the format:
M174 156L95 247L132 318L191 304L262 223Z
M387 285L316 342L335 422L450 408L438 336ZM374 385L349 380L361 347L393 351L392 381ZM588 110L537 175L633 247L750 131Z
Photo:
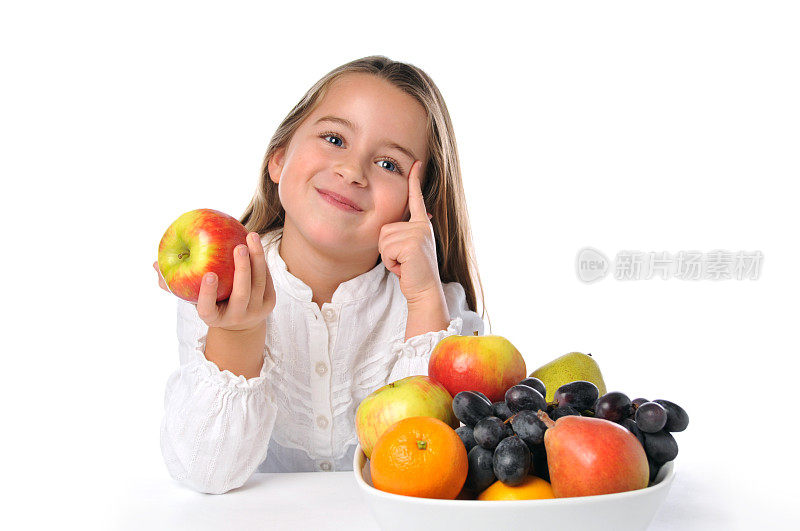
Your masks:
M431 353L428 375L456 396L480 391L492 402L526 375L522 354L501 336L448 336Z

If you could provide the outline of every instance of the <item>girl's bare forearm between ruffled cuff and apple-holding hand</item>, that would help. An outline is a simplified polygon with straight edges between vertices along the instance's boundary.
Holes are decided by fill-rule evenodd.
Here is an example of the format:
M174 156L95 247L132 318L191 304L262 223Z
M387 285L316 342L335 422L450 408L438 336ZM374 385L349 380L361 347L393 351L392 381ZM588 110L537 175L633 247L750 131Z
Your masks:
M209 327L206 338L206 359L219 370L231 371L236 376L255 378L264 364L264 343L267 322L250 330L225 330Z

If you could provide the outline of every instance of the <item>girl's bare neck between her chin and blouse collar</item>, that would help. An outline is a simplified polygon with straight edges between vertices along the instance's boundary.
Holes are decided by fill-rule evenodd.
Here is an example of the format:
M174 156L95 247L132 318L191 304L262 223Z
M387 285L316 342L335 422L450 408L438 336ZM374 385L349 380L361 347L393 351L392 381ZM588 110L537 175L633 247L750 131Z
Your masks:
M325 253L308 242L288 222L283 227L278 249L289 273L311 288L312 300L320 308L324 303L331 302L339 284L366 273L378 261L377 252L374 256L366 257L363 254L348 255L347 250L338 256Z

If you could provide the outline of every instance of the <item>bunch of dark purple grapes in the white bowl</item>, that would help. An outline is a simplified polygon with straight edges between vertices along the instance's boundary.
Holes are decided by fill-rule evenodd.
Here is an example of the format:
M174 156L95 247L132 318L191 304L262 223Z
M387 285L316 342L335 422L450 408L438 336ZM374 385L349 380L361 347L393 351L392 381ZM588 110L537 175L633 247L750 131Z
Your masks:
M576 380L559 387L551 403L538 378L528 377L510 387L505 400L492 403L477 391L462 391L453 398L453 412L464 426L456 429L467 449L469 471L465 488L481 492L497 480L521 484L529 474L550 481L544 434L547 425L539 412L557 420L583 415L617 422L633 433L644 447L650 481L660 467L678 454L670 432L683 431L686 411L667 400L631 401L614 391L599 396L597 386Z

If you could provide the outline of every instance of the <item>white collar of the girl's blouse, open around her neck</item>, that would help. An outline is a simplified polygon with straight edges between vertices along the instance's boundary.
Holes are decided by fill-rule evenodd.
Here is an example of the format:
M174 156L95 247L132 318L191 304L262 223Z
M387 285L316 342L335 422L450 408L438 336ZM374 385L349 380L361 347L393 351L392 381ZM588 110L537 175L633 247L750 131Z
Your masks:
M286 262L280 255L280 241L273 241L283 229L268 232L261 237L261 243L266 246L267 265L276 286L301 301L311 302L313 292L305 282L289 273ZM355 278L342 282L333 292L331 303L338 304L368 297L378 290L389 270L383 262L362 273Z

